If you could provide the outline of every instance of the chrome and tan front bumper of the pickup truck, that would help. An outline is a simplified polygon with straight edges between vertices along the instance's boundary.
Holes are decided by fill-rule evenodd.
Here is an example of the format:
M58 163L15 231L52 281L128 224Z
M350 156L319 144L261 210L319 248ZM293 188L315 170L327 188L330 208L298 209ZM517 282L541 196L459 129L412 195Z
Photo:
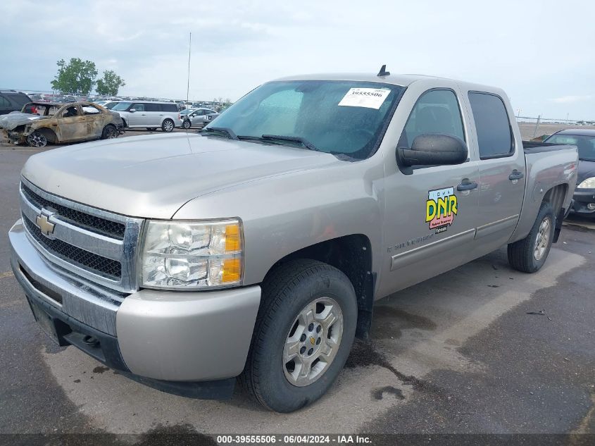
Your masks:
M242 372L250 346L261 299L258 285L118 295L47 261L29 241L22 221L8 237L15 278L30 303L54 321L58 342L168 392L204 397L177 388L196 390L197 382L208 388L223 380L232 390L228 378ZM98 342L84 342L89 336Z

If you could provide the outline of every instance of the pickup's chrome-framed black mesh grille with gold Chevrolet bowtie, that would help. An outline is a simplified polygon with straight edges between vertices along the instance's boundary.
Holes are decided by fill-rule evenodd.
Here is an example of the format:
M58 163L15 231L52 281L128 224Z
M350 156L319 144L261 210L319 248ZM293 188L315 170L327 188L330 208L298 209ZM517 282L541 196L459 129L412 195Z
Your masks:
M23 223L29 239L51 263L119 292L138 290L137 246L143 220L102 211L39 189L22 178ZM35 223L54 225L45 234Z

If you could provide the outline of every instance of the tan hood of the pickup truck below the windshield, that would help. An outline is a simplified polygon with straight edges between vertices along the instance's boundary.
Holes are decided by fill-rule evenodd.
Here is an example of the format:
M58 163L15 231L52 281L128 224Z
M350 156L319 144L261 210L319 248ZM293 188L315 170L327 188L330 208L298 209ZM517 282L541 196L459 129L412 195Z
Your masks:
M172 218L203 194L342 162L301 148L175 133L49 150L31 156L23 176L42 190L106 211Z

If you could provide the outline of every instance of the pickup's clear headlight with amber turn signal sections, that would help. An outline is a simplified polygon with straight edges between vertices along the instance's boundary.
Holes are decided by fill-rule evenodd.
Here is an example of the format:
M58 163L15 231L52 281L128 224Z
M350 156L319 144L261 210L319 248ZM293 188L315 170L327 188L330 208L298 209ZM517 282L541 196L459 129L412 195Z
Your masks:
M242 280L242 224L225 221L149 221L144 235L144 287L192 290Z

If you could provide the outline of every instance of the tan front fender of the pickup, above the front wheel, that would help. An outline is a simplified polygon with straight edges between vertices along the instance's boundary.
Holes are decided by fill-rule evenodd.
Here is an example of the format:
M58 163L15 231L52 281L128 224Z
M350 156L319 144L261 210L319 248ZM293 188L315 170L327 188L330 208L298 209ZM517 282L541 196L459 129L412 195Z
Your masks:
M273 149L273 148L271 148ZM284 256L313 244L362 234L380 270L382 205L375 180L382 165L338 161L244 183L184 204L174 219L239 217L244 225L244 285L261 283Z

